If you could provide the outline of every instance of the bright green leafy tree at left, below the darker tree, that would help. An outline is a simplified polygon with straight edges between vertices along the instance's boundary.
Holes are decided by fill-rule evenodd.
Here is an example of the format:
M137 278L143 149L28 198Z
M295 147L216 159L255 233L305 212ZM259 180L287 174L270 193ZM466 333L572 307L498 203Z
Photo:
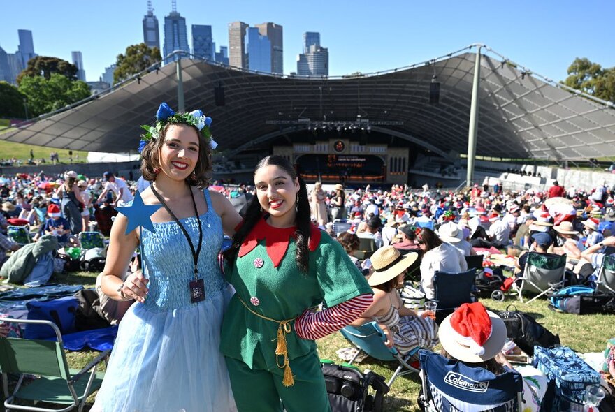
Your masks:
M59 73L52 73L49 79L43 76L25 77L19 91L28 99L31 117L58 110L90 95L85 82L69 80Z

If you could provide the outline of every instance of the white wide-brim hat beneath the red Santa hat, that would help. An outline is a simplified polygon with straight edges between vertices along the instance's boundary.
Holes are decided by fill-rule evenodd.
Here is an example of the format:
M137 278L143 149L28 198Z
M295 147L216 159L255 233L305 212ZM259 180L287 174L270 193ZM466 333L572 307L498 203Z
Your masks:
M485 350L482 355L472 353L470 346L466 346L459 339L456 339L458 333L451 326L451 318L454 313L444 318L444 321L440 323L440 329L437 333L444 351L447 351L453 358L470 363L484 362L494 358L502 350L506 342L506 325L500 316L492 311L487 311L487 314L489 314L491 319L491 336L482 345Z

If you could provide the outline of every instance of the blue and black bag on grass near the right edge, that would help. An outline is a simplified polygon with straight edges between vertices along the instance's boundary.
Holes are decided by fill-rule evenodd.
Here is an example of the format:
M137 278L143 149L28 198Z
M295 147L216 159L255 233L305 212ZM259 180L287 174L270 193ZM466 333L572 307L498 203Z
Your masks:
M568 286L549 297L549 309L559 309L567 314L613 314L615 295L595 293L588 286Z

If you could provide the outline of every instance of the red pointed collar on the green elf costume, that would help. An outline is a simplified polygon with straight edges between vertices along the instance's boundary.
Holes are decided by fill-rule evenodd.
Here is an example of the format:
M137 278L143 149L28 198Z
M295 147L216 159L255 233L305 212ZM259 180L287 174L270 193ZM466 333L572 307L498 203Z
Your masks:
M291 236L295 236L295 230L295 226L291 226L290 228L274 228L270 226L265 219L260 219L259 223L256 223L256 226L252 228L250 233L245 237L245 240L243 240L243 244L241 244L239 248L238 256L241 258L247 255L247 253L251 252L252 249L256 247L259 240L265 239L267 254L273 262L273 267L278 267L288 249ZM308 242L310 251L313 252L316 250L320 243L321 235L321 231L316 226L312 226L310 230L310 241Z

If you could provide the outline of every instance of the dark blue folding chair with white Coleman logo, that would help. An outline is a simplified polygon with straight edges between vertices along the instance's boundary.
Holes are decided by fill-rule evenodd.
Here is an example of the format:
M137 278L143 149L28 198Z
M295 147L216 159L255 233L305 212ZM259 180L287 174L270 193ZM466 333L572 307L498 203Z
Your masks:
M470 367L430 351L419 351L425 410L429 412L522 411L523 378Z

